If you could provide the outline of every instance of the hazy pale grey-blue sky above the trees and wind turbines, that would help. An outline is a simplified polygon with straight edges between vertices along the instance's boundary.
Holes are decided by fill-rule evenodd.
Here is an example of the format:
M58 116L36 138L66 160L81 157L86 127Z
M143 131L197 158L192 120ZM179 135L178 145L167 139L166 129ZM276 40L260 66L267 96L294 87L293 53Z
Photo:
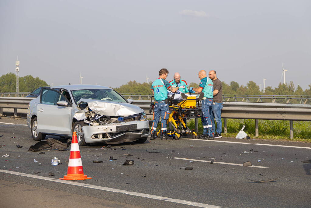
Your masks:
M200 69L221 81L311 84L311 1L0 1L0 74L118 87Z

